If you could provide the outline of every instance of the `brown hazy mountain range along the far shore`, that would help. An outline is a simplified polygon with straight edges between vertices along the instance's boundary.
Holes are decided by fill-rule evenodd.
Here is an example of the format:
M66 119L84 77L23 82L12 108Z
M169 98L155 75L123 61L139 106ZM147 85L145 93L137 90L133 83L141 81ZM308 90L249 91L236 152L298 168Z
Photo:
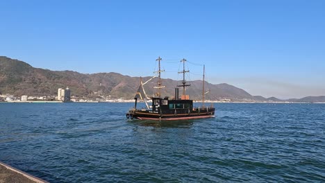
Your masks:
M149 80L151 77L144 77L142 80ZM0 56L0 94L13 94L15 96L54 96L58 88L69 87L72 95L87 98L125 98L134 97L140 84L139 77L124 76L120 73L78 73L76 71L50 71L48 69L34 68L26 62L13 60ZM166 89L163 89L162 96L174 96L174 88L179 81L163 79ZM187 94L193 100L201 100L202 80L190 82ZM153 96L156 92L153 86L156 80L151 80L145 85L146 92ZM271 97L251 96L243 89L228 85L226 83L213 85L205 82L210 88L206 94L208 100L218 101L247 101L247 102L282 102L282 100ZM181 93L181 89L180 89ZM319 103L325 102L325 96L308 96L300 99L289 99L290 102Z

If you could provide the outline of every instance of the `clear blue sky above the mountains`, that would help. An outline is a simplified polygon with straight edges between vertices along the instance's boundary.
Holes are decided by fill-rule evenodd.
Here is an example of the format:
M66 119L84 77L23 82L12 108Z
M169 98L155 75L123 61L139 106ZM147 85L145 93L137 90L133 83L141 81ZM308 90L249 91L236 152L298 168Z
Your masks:
M252 95L325 95L325 1L0 0L0 25L0 55L33 67L152 76L185 58Z

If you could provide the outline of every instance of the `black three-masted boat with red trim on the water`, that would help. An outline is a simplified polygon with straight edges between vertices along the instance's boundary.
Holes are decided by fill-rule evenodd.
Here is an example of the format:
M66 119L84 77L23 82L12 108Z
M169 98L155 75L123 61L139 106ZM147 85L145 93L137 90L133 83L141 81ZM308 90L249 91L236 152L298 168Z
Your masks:
M165 88L163 86L160 74L163 72L160 69L160 61L162 58L158 58L158 86L153 87L158 89L158 92L153 97L148 97L146 92L144 91L144 85L147 84L153 78L157 76L153 76L147 80L147 82L142 82L142 78L140 78L140 86L138 91L135 93L135 105L131 110L128 110L126 113L127 119L138 119L138 120L188 120L188 119L206 119L215 116L215 107L213 107L212 103L210 106L205 106L204 96L206 93L204 89L204 78L205 78L205 67L203 65L203 89L202 89L202 105L201 107L194 107L193 100L190 100L189 95L187 95L186 87L190 87L185 80L185 62L187 60L183 59L183 71L179 71L178 73L183 73L183 80L181 85L177 85L175 88L174 98L169 97L161 97L160 90ZM183 87L183 94L179 97L179 89L178 87ZM146 104L146 108L138 109L137 103L138 98L142 99ZM148 104L148 101L151 100L151 105Z

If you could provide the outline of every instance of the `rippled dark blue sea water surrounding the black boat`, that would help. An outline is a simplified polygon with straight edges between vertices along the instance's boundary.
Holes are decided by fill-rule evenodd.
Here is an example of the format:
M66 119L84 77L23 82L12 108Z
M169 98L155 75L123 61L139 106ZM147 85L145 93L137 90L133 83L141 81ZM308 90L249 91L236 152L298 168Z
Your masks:
M0 103L0 161L49 182L325 182L324 104L215 104L127 121L131 103Z

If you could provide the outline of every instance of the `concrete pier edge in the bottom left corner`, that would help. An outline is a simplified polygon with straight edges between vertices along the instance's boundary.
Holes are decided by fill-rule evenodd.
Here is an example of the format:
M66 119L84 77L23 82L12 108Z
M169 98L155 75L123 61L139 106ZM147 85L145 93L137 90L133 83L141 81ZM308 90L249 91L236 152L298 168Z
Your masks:
M0 183L15 182L15 183L44 183L45 180L41 180L38 177L29 175L23 171L19 171L17 168L13 168L8 164L0 162Z

